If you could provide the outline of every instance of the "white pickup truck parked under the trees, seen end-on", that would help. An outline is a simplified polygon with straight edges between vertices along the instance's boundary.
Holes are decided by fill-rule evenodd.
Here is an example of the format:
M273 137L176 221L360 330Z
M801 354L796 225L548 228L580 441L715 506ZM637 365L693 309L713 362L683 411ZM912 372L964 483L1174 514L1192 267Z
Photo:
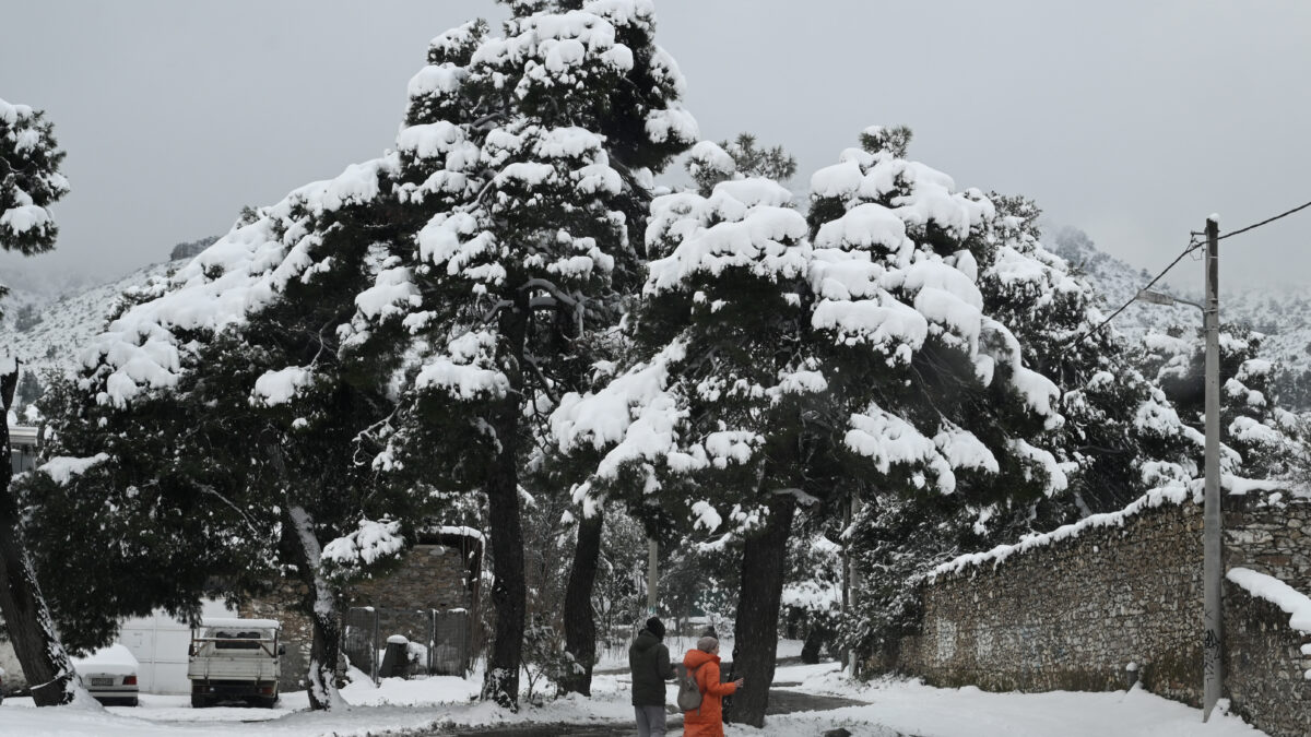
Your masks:
M206 618L191 629L186 677L191 706L241 700L261 707L278 703L278 677L286 647L278 643L282 624L274 619Z

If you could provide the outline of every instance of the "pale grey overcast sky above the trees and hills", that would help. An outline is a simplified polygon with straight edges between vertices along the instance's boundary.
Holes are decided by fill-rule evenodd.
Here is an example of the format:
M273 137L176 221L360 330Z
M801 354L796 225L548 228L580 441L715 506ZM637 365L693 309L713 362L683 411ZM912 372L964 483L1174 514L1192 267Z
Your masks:
M1033 197L1151 270L1311 201L1311 3L663 0L705 138L800 160L905 123L958 186ZM68 157L51 268L121 275L391 146L427 41L490 0L0 0L0 98ZM1311 210L1226 241L1223 283L1311 286ZM1181 265L1189 282L1201 265Z

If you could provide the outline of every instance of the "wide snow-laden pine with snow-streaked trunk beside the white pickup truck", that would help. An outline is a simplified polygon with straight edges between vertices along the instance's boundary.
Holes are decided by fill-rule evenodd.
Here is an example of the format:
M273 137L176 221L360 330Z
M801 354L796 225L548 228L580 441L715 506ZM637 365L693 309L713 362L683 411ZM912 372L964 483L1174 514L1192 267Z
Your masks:
M393 296L397 266L378 244L405 220L379 195L399 165L395 153L351 165L249 212L140 295L93 342L79 384L87 407L75 403L59 428L73 456L100 459L64 480L75 492L62 498L104 505L113 534L134 538L134 519L146 525L163 509L173 526L156 527L174 546L299 574L315 626L309 696L320 709L341 704L341 584L393 559L404 546L399 521L418 522L416 500L429 498L426 488L371 479L397 354L343 350L358 315ZM166 452L152 447L161 438ZM138 477L125 484L125 475ZM214 557L197 551L198 564ZM157 603L194 611L201 590L187 581L128 599L140 607L164 597ZM249 582L236 584L229 593Z

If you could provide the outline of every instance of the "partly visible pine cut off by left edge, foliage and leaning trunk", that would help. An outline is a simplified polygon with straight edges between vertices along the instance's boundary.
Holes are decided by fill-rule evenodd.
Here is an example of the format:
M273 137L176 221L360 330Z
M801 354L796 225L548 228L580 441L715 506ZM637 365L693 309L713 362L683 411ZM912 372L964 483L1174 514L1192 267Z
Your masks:
M54 248L59 229L49 207L68 191L68 180L59 173L63 157L42 111L0 100L0 249L31 256ZM0 298L5 291L0 285ZM14 357L3 361L0 408L8 417L18 362ZM0 447L9 447L8 422L0 441ZM13 468L5 463L0 471L0 615L37 706L63 704L73 698L73 670L24 549L12 480Z

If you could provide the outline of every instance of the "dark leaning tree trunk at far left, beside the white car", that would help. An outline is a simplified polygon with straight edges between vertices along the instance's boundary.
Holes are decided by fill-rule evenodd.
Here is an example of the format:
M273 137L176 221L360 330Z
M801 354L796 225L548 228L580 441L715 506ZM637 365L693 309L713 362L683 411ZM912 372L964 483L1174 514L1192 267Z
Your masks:
M0 447L5 448L4 468L0 469L0 614L4 615L9 640L22 666L22 675L31 688L38 707L54 707L73 700L75 681L68 653L55 635L54 622L46 599L37 586L31 560L18 536L18 500L9 484L13 481L13 462L9 451L9 407L18 383L18 370L0 375L0 399L5 414L0 430Z

